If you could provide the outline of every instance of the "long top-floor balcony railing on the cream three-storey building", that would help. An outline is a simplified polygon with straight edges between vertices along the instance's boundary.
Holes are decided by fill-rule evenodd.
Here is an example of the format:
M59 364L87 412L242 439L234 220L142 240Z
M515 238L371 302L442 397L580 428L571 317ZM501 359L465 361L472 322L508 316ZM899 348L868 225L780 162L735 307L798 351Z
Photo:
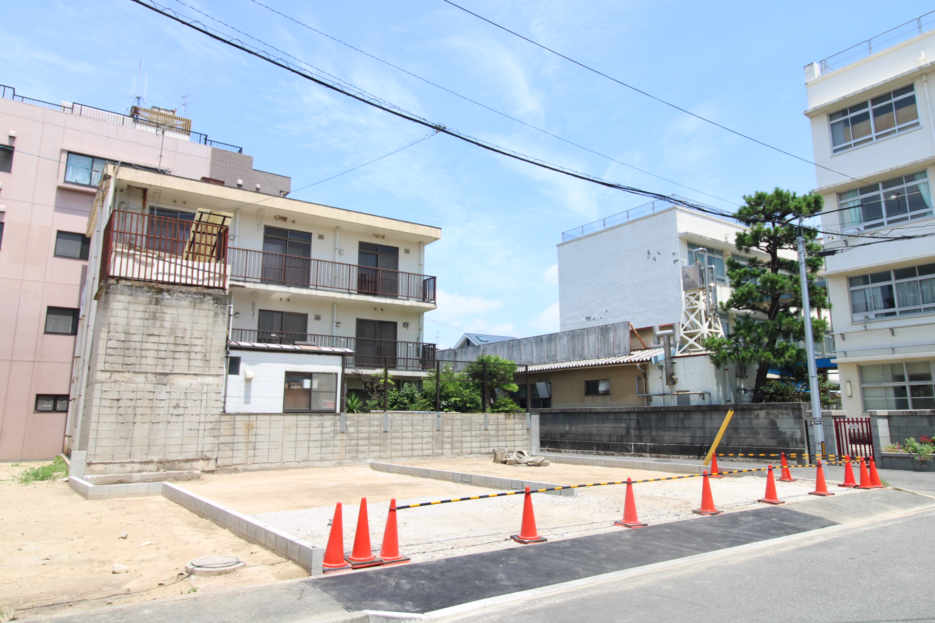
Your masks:
M435 303L434 276L246 248L230 248L227 257L237 281Z

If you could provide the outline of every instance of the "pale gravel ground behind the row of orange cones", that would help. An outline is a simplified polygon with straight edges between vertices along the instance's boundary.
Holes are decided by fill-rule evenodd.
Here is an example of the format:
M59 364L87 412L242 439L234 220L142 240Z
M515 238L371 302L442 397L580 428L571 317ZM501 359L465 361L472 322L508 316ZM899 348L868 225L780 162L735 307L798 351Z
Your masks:
M640 470L621 470L578 465L554 465L546 468L513 468L498 466L488 459L453 459L406 461L410 465L424 464L436 469L449 469L457 472L499 474L500 468L523 470L525 477L540 481L558 482L559 484L604 482L619 480L629 476L634 479L665 476L658 472ZM474 465L475 470L468 469ZM551 470L551 471L550 471ZM813 470L804 470L813 476ZM532 475L535 474L535 475ZM778 475L778 473L777 473ZM734 476L712 479L714 503L725 512L735 512L763 506L756 500L763 497L765 480L762 476ZM439 484L442 484L439 482ZM833 487L833 486L832 486ZM811 503L819 500L808 495L814 489L810 481L795 483L776 483L780 499L787 503ZM838 494L848 495L854 489L834 488ZM474 488L473 495L491 492L490 489ZM698 508L701 499L701 479L683 478L665 482L642 483L634 486L637 509L640 519L656 524L696 518L691 511ZM570 538L598 532L627 530L612 525L623 515L626 487L611 485L606 487L579 489L578 497L536 494L533 503L536 511L539 533L550 539ZM432 502L448 496L417 497L397 500L399 505L407 503ZM368 514L373 549L379 552L383 526L386 520L385 503L369 504ZM343 505L344 543L350 551L354 530L357 523L357 503ZM510 535L519 531L523 512L523 498L518 495L471 500L468 502L444 503L433 506L400 510L397 513L399 524L400 549L413 560L426 560L459 556L463 554L489 551L515 546ZM309 508L304 510L263 513L253 517L289 531L309 540L311 543L324 545L328 536L328 520L334 514L333 506Z

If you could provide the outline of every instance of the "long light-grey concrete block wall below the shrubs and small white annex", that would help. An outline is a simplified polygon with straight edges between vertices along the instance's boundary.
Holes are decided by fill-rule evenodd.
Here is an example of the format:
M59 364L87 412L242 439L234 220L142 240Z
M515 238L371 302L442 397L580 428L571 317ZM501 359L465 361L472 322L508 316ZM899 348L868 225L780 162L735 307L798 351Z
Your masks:
M528 427L538 423L536 418L525 413L437 417L410 411L223 414L217 466L262 469L335 460L454 456L487 453L498 446L528 450L532 447Z

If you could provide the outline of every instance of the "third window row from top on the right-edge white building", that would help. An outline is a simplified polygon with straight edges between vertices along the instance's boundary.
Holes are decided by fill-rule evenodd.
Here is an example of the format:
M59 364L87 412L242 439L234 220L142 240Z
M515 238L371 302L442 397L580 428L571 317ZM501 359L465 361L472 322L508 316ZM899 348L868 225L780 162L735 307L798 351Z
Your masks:
M935 263L852 276L848 285L855 322L935 312Z

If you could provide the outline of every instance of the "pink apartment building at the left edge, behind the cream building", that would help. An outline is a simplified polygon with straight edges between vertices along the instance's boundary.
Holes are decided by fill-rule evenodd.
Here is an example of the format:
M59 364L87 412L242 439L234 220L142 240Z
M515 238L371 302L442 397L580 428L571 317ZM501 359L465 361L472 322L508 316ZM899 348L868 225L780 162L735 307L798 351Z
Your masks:
M289 177L257 171L173 110L131 115L50 104L0 85L0 460L68 447L72 362L88 216L106 162L266 194Z

